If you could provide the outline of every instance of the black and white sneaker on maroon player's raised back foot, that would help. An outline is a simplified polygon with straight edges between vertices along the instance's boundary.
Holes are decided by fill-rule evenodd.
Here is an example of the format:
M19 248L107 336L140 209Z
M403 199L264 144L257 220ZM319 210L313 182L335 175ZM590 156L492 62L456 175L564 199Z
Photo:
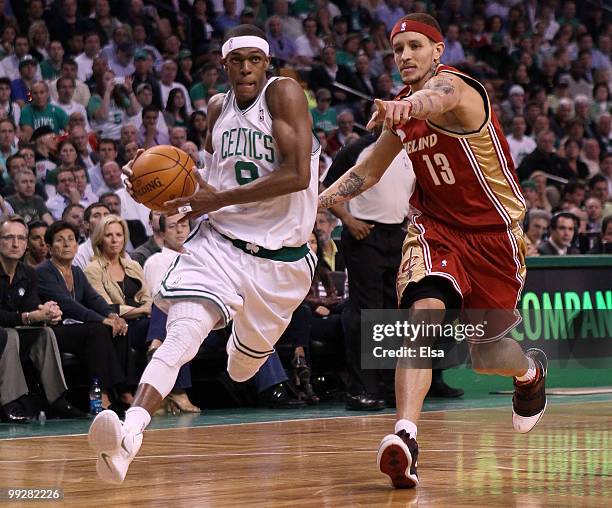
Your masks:
M522 383L514 378L512 397L512 426L525 434L533 429L546 411L546 372L548 360L541 349L529 349L525 353L536 365L536 378Z

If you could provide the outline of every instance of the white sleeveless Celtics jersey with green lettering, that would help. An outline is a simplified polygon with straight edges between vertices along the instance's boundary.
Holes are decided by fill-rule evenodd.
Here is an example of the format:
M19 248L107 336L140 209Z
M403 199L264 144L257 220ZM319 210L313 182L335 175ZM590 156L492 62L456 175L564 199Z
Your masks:
M213 134L213 162L208 182L218 190L245 185L278 169L281 154L272 135L272 117L266 89L244 111L230 90L223 102ZM264 201L227 206L208 214L222 234L266 249L299 247L312 232L318 199L320 145L313 135L310 185L307 189Z

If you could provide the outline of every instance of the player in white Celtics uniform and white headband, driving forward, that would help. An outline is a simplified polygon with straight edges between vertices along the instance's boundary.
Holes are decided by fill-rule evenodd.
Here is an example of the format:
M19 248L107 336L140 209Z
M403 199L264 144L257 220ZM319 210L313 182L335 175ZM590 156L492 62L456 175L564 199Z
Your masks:
M292 79L267 79L269 46L253 25L228 31L222 55L231 90L208 105L208 182L198 177L195 194L167 203L208 220L187 239L157 295L168 312L166 340L125 421L103 411L89 430L98 475L110 483L125 478L150 415L211 330L233 321L227 370L246 381L274 352L310 288L320 148L304 92Z

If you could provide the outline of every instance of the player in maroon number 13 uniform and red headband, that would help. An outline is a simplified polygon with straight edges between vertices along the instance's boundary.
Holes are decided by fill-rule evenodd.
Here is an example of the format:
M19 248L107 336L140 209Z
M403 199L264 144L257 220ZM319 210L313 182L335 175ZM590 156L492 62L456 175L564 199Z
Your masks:
M383 134L319 204L359 195L407 151L417 183L398 273L399 306L497 312L483 337L468 339L472 364L478 372L514 378L512 423L529 432L546 408L547 361L542 351L525 353L507 337L520 321L515 309L525 280L525 201L508 144L484 86L440 64L444 42L433 17L400 19L391 44L407 86L394 101L375 100L368 128L384 124ZM396 488L418 485L416 425L430 383L430 369L396 369L395 433L378 451L379 469Z

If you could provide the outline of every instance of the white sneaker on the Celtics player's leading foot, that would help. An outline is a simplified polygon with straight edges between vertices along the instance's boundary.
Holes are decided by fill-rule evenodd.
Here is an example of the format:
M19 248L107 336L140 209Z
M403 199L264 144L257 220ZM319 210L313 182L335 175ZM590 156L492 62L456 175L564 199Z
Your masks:
M140 450L142 433L127 430L114 411L96 416L89 428L89 445L98 455L96 471L107 483L122 483L130 462Z

